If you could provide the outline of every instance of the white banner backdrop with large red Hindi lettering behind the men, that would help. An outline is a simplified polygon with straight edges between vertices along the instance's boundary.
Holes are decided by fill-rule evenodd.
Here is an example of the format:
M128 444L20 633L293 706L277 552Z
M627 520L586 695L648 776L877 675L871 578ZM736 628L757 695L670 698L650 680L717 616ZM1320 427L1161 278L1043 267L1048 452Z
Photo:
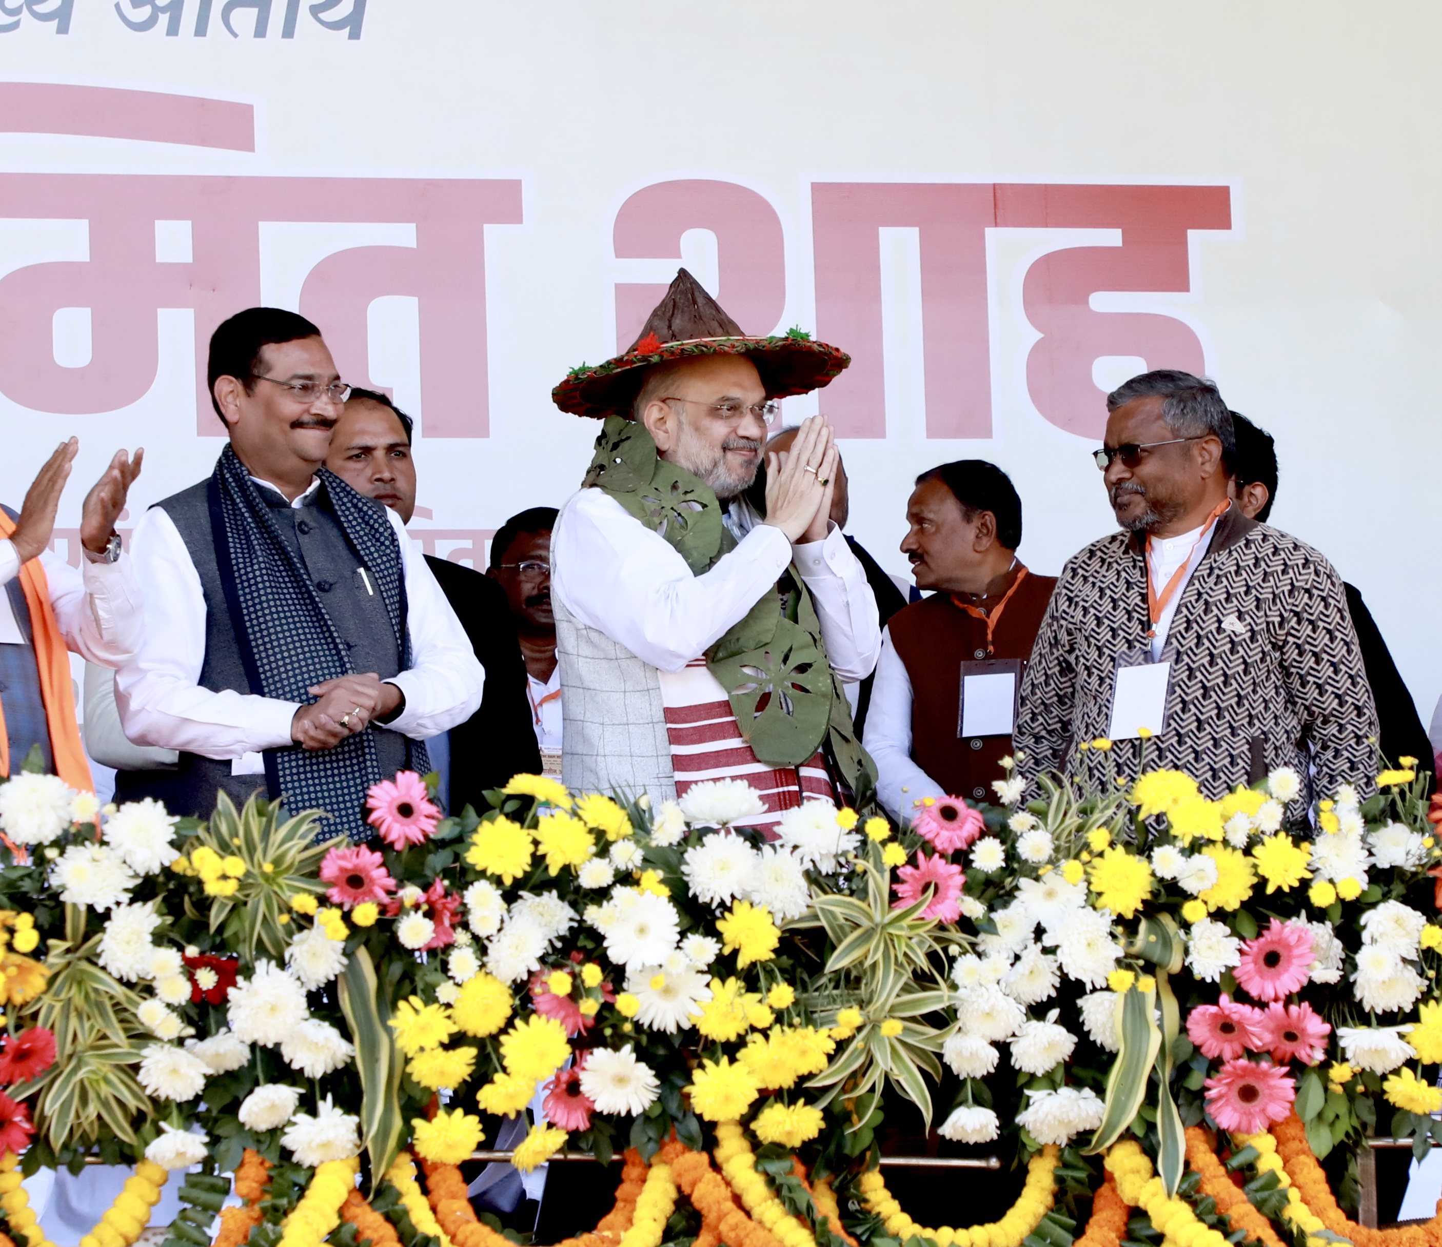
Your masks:
M0 499L72 432L62 525L118 445L131 520L208 474L206 340L265 301L418 417L412 535L483 565L588 461L551 386L685 262L852 353L784 418L836 421L898 574L959 457L1054 574L1113 526L1103 392L1206 370L1426 721L1439 36L1386 0L0 0Z

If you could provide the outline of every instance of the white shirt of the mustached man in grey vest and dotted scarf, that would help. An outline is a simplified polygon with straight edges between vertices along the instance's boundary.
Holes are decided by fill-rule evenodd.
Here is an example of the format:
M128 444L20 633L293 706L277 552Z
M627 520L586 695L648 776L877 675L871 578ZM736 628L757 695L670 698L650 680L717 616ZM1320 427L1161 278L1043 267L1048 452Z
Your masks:
M262 480L255 483L275 489ZM300 506L317 486L319 482L311 482L291 506ZM401 545L411 637L411 666L386 680L405 695L405 709L385 727L412 740L427 740L476 712L485 672L401 518L389 507L385 515ZM162 507L146 512L133 545L144 595L146 637L115 678L115 702L125 735L141 745L231 758L236 774L258 773L262 750L291 744L291 719L298 704L202 688L206 610L190 552Z

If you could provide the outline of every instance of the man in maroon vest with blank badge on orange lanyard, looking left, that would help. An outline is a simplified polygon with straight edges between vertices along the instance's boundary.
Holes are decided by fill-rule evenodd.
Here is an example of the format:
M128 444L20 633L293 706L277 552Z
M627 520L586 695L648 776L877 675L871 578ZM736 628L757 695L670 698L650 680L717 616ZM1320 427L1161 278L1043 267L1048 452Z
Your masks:
M927 799L981 800L1005 777L1021 672L1057 582L1017 559L1021 499L985 460L921 473L907 525L901 552L934 593L891 617L865 729L895 819Z

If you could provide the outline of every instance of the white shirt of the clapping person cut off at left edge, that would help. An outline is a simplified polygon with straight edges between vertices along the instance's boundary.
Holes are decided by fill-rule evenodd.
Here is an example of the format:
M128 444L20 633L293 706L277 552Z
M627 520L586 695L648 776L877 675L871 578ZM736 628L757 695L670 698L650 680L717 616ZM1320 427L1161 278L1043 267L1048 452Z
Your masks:
M144 620L140 588L128 554L118 562L81 561L76 571L52 551L40 552L40 567L50 588L50 607L65 644L87 662L115 667L140 649ZM0 541L0 585L20 574L13 541ZM23 644L25 633L10 610L10 595L0 593L0 644Z

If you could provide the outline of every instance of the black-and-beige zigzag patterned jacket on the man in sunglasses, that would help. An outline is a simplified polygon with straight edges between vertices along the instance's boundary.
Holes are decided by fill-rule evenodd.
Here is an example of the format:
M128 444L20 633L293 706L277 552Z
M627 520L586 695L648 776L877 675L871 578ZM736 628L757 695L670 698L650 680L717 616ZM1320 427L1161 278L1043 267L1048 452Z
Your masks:
M1142 741L1107 754L1076 741L1107 734L1118 656L1148 644L1142 545L1118 532L1061 571L1022 682L1015 747L1027 778L1064 771L1106 783L1136 774ZM1217 520L1167 634L1167 729L1145 765L1191 774L1213 799L1291 765L1315 768L1321 796L1371 789L1377 712L1343 582L1315 549L1247 519Z

